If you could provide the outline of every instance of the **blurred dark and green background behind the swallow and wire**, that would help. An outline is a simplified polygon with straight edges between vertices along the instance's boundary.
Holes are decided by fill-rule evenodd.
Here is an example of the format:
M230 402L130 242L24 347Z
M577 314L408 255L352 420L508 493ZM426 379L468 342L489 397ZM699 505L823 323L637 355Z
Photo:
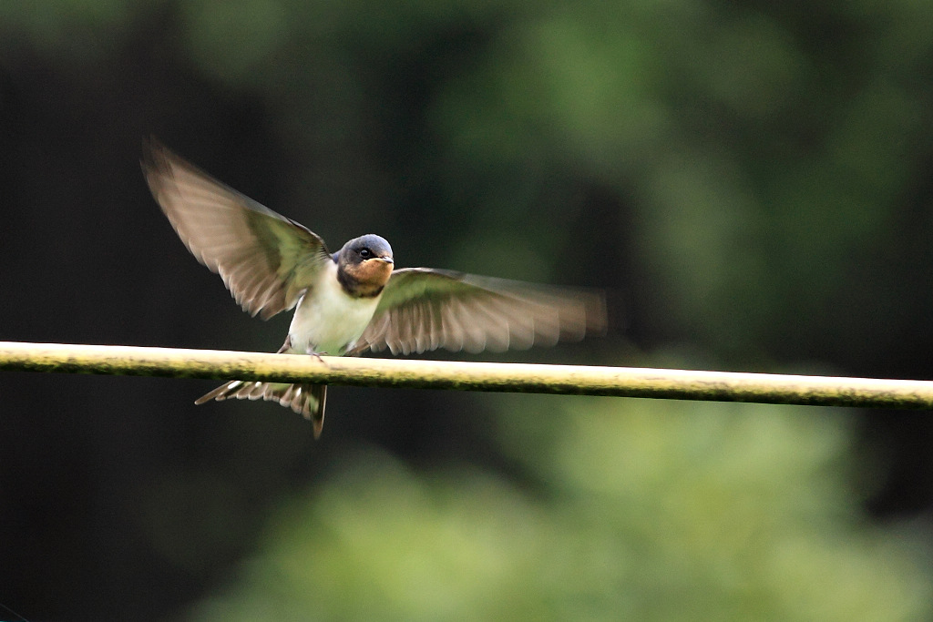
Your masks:
M274 351L155 133L400 266L605 287L474 360L930 378L933 3L0 3L0 339ZM448 356L450 356L448 354ZM929 413L0 376L38 620L933 618ZM0 615L4 617L4 615ZM8 617L8 616L7 616Z

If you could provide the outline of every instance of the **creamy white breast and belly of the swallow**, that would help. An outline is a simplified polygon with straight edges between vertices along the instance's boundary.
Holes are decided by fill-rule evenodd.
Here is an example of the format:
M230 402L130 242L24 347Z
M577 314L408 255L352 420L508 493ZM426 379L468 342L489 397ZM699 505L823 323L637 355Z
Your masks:
M292 351L340 356L369 325L379 297L354 298L337 281L337 265L328 263L321 279L299 300L288 328Z

